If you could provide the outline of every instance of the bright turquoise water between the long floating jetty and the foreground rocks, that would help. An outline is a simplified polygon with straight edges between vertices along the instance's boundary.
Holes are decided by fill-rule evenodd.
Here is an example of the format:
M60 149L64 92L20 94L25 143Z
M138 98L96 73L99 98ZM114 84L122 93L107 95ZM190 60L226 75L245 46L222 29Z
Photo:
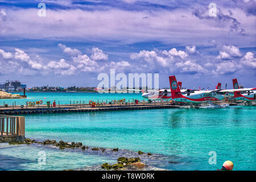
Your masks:
M176 156L178 164L155 164L166 169L216 170L231 160L235 170L255 170L255 115L255 106L26 115L26 137L141 150L166 155L167 160ZM24 146L23 155L31 155L30 150L35 149ZM10 156L8 151L0 150L0 155ZM209 164L210 151L216 152L217 164ZM99 164L107 160L94 159ZM74 163L76 167L90 165ZM51 165L59 169L58 163Z

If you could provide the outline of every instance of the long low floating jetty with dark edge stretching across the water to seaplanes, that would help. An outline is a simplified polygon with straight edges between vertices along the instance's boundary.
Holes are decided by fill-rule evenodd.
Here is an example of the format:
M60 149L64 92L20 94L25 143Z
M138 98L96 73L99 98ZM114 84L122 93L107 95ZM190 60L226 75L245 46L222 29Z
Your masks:
M222 104L224 102L221 102ZM238 105L240 102L225 102L229 105ZM195 108L195 105L189 105L177 102L125 102L119 104L99 104L92 106L80 102L71 102L71 104L55 104L55 105L12 105L0 106L0 114L2 115L27 115L27 114L53 114L53 113L84 113L96 111L117 111L117 110L143 110L143 109L174 109L174 108Z

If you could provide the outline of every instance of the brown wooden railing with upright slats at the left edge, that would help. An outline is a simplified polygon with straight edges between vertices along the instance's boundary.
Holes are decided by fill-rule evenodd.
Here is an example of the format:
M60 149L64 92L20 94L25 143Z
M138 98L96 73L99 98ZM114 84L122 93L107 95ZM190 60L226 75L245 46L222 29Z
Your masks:
M25 135L25 117L0 115L0 136Z

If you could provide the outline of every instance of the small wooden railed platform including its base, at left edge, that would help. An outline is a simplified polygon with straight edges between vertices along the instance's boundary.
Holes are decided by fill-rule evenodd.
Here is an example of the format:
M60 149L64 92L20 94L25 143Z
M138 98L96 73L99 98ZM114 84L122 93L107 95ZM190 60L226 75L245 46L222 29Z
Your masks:
M25 139L25 117L0 115L0 143L23 142Z

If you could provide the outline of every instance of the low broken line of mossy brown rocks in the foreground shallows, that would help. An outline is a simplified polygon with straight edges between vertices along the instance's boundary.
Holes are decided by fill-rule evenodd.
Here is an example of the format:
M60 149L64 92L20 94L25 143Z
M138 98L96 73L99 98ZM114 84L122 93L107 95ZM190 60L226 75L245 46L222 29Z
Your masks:
M44 140L43 142L36 141L34 139L26 138L23 142L18 143L9 143L9 144L42 144L42 145L50 145L52 147L58 147L60 150L67 149L77 149L81 151L90 151L90 152L101 152L101 154L108 152L118 152L118 148L98 148L98 147L89 147L83 145L81 142L64 142L60 140L59 142L56 142L56 140ZM151 157L151 153L144 153L142 151L138 151L137 155L139 156L148 156ZM142 160L137 157L131 157L128 156L121 156L117 159L117 163L115 164L108 164L104 163L100 166L92 166L92 167L85 167L80 169L67 169L67 171L88 171L88 170L114 170L114 171L138 171L138 170L165 170L165 169L159 169L155 167L148 166L141 162Z

